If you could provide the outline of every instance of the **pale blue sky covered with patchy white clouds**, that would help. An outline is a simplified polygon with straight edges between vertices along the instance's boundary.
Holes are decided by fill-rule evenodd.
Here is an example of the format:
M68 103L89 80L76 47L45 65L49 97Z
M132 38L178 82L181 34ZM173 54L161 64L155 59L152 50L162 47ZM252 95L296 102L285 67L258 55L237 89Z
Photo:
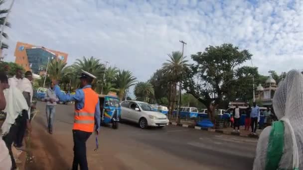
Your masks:
M187 56L233 43L262 74L281 73L303 69L300 21L300 0L15 0L3 53L14 61L16 41L43 45L68 53L68 64L94 56L146 81L179 40Z

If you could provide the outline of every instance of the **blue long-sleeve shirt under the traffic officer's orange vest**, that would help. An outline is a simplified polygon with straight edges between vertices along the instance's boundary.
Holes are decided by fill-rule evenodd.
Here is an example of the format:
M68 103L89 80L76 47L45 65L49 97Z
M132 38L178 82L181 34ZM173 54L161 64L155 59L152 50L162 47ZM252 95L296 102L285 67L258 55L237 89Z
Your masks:
M83 88L79 88L76 90L76 94L64 94L58 85L55 86L55 93L60 99L60 101L73 101L76 100L76 109L80 110L84 107L84 88L91 88L91 85L86 85ZM95 130L99 130L101 121L101 112L100 112L100 101L98 98L98 103L95 109Z

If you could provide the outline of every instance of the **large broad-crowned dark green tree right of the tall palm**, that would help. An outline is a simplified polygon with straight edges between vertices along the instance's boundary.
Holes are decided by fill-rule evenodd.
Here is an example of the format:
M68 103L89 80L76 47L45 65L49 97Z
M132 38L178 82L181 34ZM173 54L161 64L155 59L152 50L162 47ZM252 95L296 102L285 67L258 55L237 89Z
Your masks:
M248 50L240 51L232 44L209 46L205 51L191 55L195 62L184 80L186 91L208 109L209 118L215 120L215 109L237 84L241 65L250 60ZM246 70L254 70L247 68ZM252 76L256 76L253 75ZM252 77L250 76L250 77ZM251 79L251 78L250 78ZM198 83L196 83L198 81Z

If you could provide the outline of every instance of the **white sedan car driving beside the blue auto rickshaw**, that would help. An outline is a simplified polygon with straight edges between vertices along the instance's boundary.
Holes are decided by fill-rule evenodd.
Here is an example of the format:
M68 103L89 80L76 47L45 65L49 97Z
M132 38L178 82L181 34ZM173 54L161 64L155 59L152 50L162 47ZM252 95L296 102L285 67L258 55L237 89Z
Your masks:
M164 127L169 120L165 114L152 111L149 103L141 101L123 101L121 103L121 120L139 123L142 129L148 126Z

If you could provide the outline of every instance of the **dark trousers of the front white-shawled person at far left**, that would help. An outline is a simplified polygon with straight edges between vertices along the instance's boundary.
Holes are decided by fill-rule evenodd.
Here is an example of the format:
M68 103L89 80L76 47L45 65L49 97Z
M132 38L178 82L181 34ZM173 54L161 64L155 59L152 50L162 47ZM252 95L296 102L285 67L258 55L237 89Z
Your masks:
M13 124L13 125L11 125L9 132L5 136L2 137L3 141L5 142L6 147L8 149L8 153L9 153L9 156L11 159L11 170L14 170L17 168L15 159L13 158L12 151L11 151L11 144L12 144L13 140L16 138L16 132L17 132L17 125Z

